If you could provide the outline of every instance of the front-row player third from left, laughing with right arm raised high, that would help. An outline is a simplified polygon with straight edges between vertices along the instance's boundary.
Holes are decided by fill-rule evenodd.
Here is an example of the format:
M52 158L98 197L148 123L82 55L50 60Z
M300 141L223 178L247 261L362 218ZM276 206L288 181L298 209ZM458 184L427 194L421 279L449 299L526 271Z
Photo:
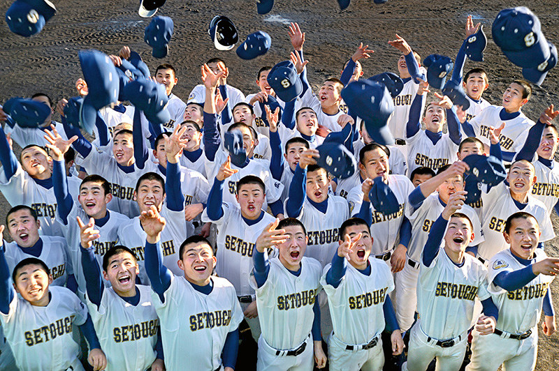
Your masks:
M165 219L157 208L140 215L145 230L145 260L152 301L161 321L161 338L168 370L233 371L239 344L242 310L235 288L225 278L212 276L216 258L201 236L190 236L180 246L182 276L163 264L161 230ZM196 351L192 349L196 348Z

